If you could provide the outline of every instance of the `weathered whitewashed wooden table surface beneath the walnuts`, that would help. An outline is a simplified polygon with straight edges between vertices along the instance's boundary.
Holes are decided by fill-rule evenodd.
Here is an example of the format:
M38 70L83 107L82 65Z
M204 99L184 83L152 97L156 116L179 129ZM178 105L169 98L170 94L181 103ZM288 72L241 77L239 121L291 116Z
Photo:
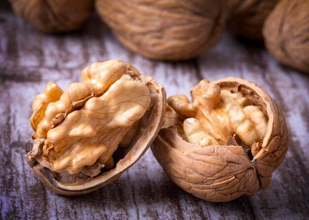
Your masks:
M121 59L164 84L167 96L189 95L200 79L251 80L281 106L290 148L270 186L227 203L198 199L172 183L149 149L116 182L82 196L48 190L25 159L35 96L49 81L63 89L92 62ZM262 47L225 33L188 62L155 62L124 48L97 15L78 32L44 35L0 3L0 219L308 219L309 75L278 65Z

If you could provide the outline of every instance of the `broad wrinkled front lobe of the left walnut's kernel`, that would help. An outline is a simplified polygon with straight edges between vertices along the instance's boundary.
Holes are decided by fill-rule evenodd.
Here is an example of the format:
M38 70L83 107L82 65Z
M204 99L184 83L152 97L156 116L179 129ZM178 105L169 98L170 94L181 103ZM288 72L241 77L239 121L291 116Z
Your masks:
M123 75L102 96L89 99L48 131L43 158L58 173L76 174L99 157L105 164L149 105L147 86Z

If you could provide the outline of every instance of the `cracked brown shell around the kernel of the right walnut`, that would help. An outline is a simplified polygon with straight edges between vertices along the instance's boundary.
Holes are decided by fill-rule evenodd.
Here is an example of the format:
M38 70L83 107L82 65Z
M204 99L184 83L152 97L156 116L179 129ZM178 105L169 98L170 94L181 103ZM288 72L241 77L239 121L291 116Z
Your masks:
M288 150L288 128L270 95L253 82L229 77L214 83L221 89L242 93L267 115L262 142L251 146L254 156L250 159L244 145L237 146L238 142L229 139L223 146L191 144L173 126L160 130L151 149L166 175L179 187L204 200L223 202L251 196L270 184L272 172Z

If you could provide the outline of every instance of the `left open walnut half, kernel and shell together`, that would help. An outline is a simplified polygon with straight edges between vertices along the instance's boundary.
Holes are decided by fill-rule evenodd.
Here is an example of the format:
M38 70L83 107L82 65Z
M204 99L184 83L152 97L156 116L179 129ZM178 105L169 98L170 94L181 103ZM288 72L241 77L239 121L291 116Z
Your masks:
M36 96L28 163L56 193L77 195L115 181L152 144L164 120L165 90L119 60L93 63L81 83L55 83Z

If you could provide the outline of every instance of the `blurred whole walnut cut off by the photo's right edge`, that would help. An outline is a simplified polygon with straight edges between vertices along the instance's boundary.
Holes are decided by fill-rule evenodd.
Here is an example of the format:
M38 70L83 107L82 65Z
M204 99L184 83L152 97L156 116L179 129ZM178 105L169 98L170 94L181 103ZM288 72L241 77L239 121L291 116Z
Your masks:
M309 73L309 0L281 0L265 21L263 36L280 63Z

